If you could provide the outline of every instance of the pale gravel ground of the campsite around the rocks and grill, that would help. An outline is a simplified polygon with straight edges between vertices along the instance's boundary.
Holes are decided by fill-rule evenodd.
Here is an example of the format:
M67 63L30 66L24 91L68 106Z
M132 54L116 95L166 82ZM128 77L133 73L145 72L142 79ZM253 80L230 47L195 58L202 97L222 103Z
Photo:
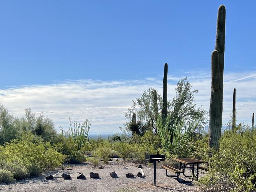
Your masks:
M11 184L0 185L0 191L10 192L56 192L56 191L86 191L86 192L139 192L139 191L179 191L179 192L197 192L200 191L197 187L197 182L178 183L175 178L169 178L165 175L165 169L157 169L157 187L153 186L153 166L143 165L143 172L146 177L137 177L140 172L138 165L135 163L126 163L120 161L110 161L108 165L102 165L103 169L94 167L89 162L81 165L65 165L64 170L60 173L49 172L42 176L12 182ZM128 167L128 169L124 169ZM110 173L115 171L117 178L111 178ZM189 170L186 170L187 173ZM78 180L78 173L83 173L86 176L84 180ZM98 179L90 178L90 172L98 173ZM135 178L127 178L125 174L132 173ZM57 174L56 174L57 173ZM70 180L63 180L62 173L70 174ZM48 174L56 174L54 180L46 180ZM199 177L203 176L204 172L199 172ZM181 176L180 178L184 178ZM187 178L184 178L187 180Z

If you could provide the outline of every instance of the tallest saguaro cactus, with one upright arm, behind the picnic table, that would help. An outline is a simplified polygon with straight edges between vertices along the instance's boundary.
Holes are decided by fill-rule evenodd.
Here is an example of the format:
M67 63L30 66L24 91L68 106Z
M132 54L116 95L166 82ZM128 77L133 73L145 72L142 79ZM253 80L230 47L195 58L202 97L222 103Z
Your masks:
M208 144L215 150L219 148L222 127L223 104L223 71L225 52L225 20L226 8L219 6L215 50L211 54L211 101L210 101L210 132Z

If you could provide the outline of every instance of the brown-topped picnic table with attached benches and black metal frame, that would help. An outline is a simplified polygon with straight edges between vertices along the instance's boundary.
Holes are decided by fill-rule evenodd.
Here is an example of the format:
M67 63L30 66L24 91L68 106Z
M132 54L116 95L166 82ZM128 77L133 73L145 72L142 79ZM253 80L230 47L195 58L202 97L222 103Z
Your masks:
M177 161L180 163L179 169L176 169L174 167L168 166L168 165L162 165L162 167L165 169L165 174L167 177L177 177L178 182L192 182L194 177L196 177L196 180L198 181L198 170L203 169L202 167L199 167L199 164L204 163L202 160L193 159L193 158L172 158L174 161ZM183 164L183 166L182 166ZM185 168L187 165L190 165L192 169L192 176L187 176L185 174ZM182 170L181 170L182 169ZM196 175L195 175L195 169L196 169ZM175 173L177 175L167 175L167 170ZM180 174L183 174L185 177L192 177L191 181L180 181L179 176Z

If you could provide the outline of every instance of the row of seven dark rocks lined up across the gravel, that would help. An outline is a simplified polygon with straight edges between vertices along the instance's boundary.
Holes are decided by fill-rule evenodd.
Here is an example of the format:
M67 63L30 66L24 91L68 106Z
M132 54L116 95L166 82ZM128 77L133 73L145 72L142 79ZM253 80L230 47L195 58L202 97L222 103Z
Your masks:
M68 175L68 174L65 174L65 173L61 174L61 176L62 176L64 179L71 179L71 176ZM133 178L133 177L134 177L134 175L133 175L132 173L127 173L127 174L125 174L125 176L128 177L128 178ZM98 177L99 177L99 174L98 174L98 173L90 172L90 177L91 177L91 178L98 178ZM116 172L110 173L110 177L117 177ZM143 177L142 173L139 172L139 173L137 174L137 177ZM47 180L52 180L52 179L54 179L54 177L53 177L52 175L46 176L45 178L46 178ZM77 179L84 179L84 178L86 178L86 177L84 176L83 173L79 173L76 178L77 178Z

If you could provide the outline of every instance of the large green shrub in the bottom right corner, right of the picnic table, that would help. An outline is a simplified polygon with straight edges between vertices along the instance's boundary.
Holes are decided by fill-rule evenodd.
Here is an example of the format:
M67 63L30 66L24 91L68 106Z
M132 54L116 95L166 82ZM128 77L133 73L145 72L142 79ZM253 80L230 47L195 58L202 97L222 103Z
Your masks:
M219 150L210 158L210 171L200 180L201 187L215 191L255 191L255 132L226 131L219 142Z

